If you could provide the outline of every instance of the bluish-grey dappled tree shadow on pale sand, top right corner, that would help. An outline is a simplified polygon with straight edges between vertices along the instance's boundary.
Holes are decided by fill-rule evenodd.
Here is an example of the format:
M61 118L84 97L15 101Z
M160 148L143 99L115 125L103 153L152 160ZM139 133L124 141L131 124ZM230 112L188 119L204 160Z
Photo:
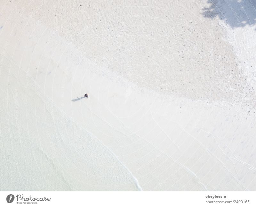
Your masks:
M232 29L256 24L256 0L208 0L204 7L205 18L219 16Z

